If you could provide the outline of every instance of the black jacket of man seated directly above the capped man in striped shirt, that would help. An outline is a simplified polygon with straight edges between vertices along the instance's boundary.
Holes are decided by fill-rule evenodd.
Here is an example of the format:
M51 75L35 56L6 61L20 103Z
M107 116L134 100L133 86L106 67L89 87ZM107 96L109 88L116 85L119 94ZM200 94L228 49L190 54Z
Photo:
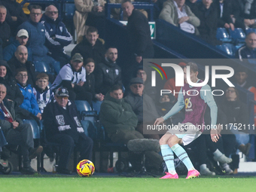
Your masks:
M99 39L97 39L94 46L92 46L84 36L83 41L77 44L72 50L71 57L74 56L75 53L81 53L81 56L84 58L84 62L88 58L93 58L95 64L97 65L99 62L102 62L102 59L104 59L105 47L102 44L102 41L99 41Z

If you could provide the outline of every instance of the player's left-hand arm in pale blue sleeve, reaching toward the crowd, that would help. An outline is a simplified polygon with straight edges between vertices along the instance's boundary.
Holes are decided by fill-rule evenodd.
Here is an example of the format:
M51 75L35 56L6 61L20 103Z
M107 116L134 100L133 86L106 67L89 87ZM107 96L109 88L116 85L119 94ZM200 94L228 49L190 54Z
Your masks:
M175 105L172 107L172 109L163 117L157 118L157 120L154 122L154 124L158 125L160 123L163 123L164 120L167 120L169 117L172 117L172 115L177 114L181 109L184 108L184 96L181 90L178 93L178 101L175 103Z

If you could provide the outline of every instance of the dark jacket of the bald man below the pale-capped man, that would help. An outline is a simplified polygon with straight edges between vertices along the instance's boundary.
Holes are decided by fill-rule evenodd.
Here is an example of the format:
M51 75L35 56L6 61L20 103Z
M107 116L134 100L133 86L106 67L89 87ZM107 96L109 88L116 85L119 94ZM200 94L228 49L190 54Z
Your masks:
M31 84L32 87L34 87L35 84L35 78L36 78L36 72L35 72L35 66L32 62L27 61L25 65L21 63L15 56L8 60L8 64L11 68L12 74L16 73L16 69L20 67L25 67L28 71L29 79L27 81L27 84Z

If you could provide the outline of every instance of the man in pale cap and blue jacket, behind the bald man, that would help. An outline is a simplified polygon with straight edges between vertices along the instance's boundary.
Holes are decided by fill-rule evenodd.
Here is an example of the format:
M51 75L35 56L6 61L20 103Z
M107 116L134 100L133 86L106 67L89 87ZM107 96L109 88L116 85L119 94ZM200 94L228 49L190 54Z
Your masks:
M10 60L14 56L14 53L17 50L17 47L19 45L24 45L28 49L28 60L32 61L32 50L27 44L28 41L29 41L29 33L26 31L26 29L20 29L17 32L16 39L7 47L4 48L3 59L5 61Z

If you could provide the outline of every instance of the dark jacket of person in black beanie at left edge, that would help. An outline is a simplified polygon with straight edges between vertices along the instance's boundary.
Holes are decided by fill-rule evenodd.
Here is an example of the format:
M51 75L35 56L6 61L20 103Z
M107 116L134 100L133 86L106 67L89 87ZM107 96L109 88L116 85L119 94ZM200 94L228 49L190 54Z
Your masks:
M17 104L17 106L20 106L23 103L24 99L23 93L20 91L20 88L17 85L8 64L6 63L6 65L3 66L6 67L7 73L5 75L5 78L0 77L0 84L5 84L5 87L7 88L7 94L5 98L11 99Z

